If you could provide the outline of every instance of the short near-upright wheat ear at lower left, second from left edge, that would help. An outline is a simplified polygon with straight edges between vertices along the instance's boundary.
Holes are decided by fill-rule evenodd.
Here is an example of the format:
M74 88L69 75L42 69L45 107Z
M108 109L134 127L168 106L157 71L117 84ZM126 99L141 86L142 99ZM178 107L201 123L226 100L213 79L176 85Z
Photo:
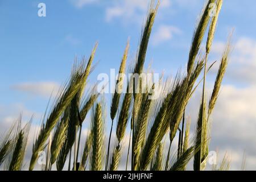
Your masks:
M21 119L18 121L18 129L14 138L14 148L11 152L9 171L20 171L23 165L23 159L26 154L28 134L30 131L31 121L21 128Z

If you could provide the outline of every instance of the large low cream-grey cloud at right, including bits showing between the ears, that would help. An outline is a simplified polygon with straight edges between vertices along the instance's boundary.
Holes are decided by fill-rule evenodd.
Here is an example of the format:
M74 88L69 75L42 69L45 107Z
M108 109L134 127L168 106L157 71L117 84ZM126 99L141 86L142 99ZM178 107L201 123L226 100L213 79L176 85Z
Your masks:
M209 85L209 84L208 84ZM208 97L212 88L208 88ZM191 116L194 132L201 100L199 88L187 107ZM210 151L220 151L220 159L228 152L232 159L231 169L241 169L242 155L246 152L247 168L256 168L256 86L237 88L233 85L222 85L217 104L211 117L212 131ZM197 109L195 109L197 108ZM251 159L251 160L249 160Z

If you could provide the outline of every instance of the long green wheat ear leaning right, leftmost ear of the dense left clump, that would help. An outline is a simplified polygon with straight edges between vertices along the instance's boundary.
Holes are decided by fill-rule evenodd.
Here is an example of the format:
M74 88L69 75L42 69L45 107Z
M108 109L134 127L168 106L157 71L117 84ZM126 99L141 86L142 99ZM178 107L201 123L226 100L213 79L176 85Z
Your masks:
M39 131L38 138L36 139L34 146L32 148L32 157L30 160L30 170L35 166L36 160L38 159L38 154L43 151L46 140L49 137L52 129L55 127L57 121L61 117L61 114L68 107L73 97L81 89L84 81L84 75L75 75L65 86L60 96L57 97L56 102L52 108L51 113L49 113L46 122L43 122L42 127Z

